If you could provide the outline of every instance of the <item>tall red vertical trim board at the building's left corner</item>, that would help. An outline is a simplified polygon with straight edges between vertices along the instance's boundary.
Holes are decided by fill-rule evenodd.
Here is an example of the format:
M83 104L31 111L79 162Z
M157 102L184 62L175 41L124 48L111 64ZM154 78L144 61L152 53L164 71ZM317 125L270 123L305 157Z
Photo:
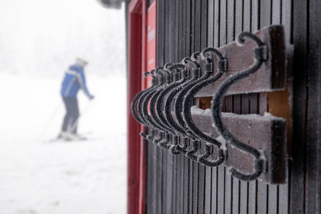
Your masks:
M129 4L128 18L128 171L127 171L127 213L137 214L139 211L140 156L141 138L138 135L141 127L131 115L130 103L133 97L141 91L141 36L142 16L137 11L140 1L133 0Z

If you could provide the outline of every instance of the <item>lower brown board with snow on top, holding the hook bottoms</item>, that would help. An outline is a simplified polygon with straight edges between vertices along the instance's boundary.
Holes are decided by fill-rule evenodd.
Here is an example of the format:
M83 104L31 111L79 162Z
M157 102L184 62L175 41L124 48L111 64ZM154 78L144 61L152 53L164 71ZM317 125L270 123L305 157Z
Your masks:
M193 109L196 107L193 106ZM208 126L211 124L212 116L210 111L192 109L192 118L196 126L204 133L212 133L217 138L215 128ZM286 121L272 115L237 115L234 113L222 113L223 123L226 128L242 142L248 142L256 149L263 149L267 162L267 172L263 173L260 180L268 183L285 183L286 181ZM242 126L239 126L242 124ZM242 153L237 148L228 146L229 158L223 165L235 168L242 168L245 173L253 170L253 157ZM239 160L243 160L240 163Z

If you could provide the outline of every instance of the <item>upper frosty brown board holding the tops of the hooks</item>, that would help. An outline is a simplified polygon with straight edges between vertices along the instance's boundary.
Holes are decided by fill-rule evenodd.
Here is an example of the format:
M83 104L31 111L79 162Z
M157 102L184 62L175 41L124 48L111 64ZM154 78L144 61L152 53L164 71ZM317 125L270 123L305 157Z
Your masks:
M252 76L233 84L227 94L275 91L285 88L285 43L282 26L270 26L261 29L255 35L267 45L268 59ZM250 68L254 61L254 48L253 41L249 41L242 47L235 41L219 48L218 51L228 60L228 69L218 81L202 88L196 96L213 96L226 78Z

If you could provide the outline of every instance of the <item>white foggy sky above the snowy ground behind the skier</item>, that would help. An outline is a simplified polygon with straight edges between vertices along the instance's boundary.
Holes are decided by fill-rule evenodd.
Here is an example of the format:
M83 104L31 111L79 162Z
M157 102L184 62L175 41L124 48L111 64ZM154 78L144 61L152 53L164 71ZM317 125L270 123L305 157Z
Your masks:
M96 0L0 2L0 72L61 76L78 56L93 73L125 73L123 9Z

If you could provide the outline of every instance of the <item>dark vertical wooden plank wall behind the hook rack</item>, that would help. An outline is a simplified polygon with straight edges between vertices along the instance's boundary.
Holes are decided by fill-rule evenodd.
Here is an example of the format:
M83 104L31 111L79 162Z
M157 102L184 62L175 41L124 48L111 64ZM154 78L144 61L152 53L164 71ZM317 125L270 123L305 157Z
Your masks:
M287 44L295 44L295 146L290 154L293 161L289 162L288 183L267 185L231 178L223 166L207 168L148 143L147 213L320 213L318 9L317 0L157 1L158 66L178 62L206 46L228 44L242 31L256 31L270 24L285 26ZM308 83L312 85L308 87ZM267 111L266 100L266 93L227 96L223 110L263 114ZM309 150L307 140L311 142Z

